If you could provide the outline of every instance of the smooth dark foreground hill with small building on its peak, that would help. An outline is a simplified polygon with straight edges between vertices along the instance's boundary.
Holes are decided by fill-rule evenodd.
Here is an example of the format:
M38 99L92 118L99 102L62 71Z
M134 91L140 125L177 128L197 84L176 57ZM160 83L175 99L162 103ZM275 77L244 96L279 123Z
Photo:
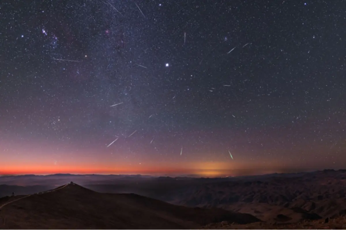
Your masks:
M74 183L11 201L1 208L1 228L196 229L220 221L260 221L251 214L183 207L136 194L99 193Z

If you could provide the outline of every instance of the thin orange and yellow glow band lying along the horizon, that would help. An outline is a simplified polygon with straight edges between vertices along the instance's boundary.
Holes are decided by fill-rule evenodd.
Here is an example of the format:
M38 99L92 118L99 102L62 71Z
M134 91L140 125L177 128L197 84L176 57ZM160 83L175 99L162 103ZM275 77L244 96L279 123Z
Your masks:
M269 173L287 172L288 168L283 167L279 162L268 162L266 165L258 163L238 162L196 162L189 164L141 164L141 165L110 165L103 164L64 164L47 166L47 164L22 164L3 165L0 175L19 174L142 174L142 175L195 175L199 177L225 177L225 176L247 176Z

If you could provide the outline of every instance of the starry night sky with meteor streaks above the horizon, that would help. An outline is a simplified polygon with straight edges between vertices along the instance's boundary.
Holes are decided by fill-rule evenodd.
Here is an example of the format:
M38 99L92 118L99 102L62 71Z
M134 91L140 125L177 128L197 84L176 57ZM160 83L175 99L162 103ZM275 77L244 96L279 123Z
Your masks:
M0 174L345 168L345 11L342 0L3 1Z

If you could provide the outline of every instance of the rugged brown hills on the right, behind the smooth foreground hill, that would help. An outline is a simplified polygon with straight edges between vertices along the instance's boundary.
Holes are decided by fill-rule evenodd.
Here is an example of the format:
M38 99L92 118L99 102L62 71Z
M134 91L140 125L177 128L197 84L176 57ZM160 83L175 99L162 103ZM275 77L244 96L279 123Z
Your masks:
M262 221L278 223L346 215L345 170L277 174L260 179L197 184L167 193L162 200L249 213Z

